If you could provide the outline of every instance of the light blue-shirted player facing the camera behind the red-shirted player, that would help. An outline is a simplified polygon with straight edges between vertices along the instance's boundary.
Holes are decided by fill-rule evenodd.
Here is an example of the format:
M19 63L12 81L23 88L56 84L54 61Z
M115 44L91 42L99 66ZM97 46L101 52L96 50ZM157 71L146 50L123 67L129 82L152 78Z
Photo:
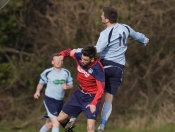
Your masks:
M59 132L59 122L57 116L63 107L63 98L65 90L73 87L70 72L62 68L63 59L60 59L58 53L52 55L51 61L53 67L42 72L39 84L37 85L34 98L38 99L43 86L47 84L45 90L44 106L49 117L45 125L42 126L40 132L48 132L52 128L52 132Z

